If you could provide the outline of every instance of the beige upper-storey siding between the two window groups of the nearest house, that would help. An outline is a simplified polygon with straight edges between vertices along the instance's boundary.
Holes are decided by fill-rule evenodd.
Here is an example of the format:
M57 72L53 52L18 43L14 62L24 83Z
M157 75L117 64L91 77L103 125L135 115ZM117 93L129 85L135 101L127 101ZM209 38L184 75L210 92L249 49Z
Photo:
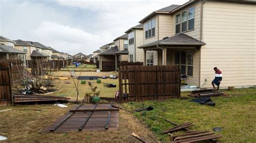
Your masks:
M171 37L173 35L172 22L172 15L159 15L159 40L165 37Z

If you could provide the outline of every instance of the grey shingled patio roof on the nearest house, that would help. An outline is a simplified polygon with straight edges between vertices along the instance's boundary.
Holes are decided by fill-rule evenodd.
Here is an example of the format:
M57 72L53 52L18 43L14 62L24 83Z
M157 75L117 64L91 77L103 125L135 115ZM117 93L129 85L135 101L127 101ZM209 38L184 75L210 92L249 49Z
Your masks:
M205 42L201 42L197 39L194 39L190 37L189 35L180 33L176 34L173 37L166 37L163 40L151 42L149 44L145 44L142 46L139 46L138 48L147 48L151 46L157 46L157 45L193 45L193 46L201 46L205 45Z

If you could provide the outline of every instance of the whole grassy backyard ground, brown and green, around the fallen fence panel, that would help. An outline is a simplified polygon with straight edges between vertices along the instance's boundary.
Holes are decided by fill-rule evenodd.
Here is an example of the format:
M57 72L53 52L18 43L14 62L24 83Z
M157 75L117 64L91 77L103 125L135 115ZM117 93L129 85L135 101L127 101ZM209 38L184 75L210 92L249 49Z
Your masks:
M88 67L92 68L92 67ZM80 69L80 68L75 68ZM85 67L82 68L86 69ZM79 71L76 72L80 74ZM57 71L53 75L69 76L69 71ZM95 72L83 71L84 76L109 76L118 75L117 72ZM68 84L65 82L69 82ZM82 101L85 94L90 92L87 84L79 82L79 97ZM114 97L118 91L118 79L101 79L102 83L96 83L91 80L100 90L101 97ZM104 83L116 84L116 88L106 88ZM65 96L72 100L76 99L77 92L75 84L69 80L56 81L57 91L49 95ZM93 132L66 132L66 133L44 133L43 130L50 126L56 119L63 116L73 106L77 104L68 103L68 108L59 108L53 104L39 105L16 105L0 106L0 110L10 109L0 112L0 135L9 138L6 141L18 142L46 142L53 141L65 142L88 141L88 142L138 142L131 137L131 133L143 137L149 142L169 142L170 135L161 134L173 125L167 123L164 119L171 120L178 124L191 122L195 125L193 130L212 131L214 127L221 127L222 131L217 132L223 136L218 140L223 142L253 142L255 141L255 123L256 123L256 88L234 89L234 91L225 91L232 97L212 97L216 103L215 106L201 105L193 103L191 97L186 96L188 92L181 92L185 99L167 99L165 101L146 101L146 102L127 102L123 106L125 110L119 111L119 130L93 131ZM106 102L106 101L101 101ZM146 108L152 106L152 111L135 112L134 109ZM180 133L180 132L178 132ZM174 133L177 134L177 133Z

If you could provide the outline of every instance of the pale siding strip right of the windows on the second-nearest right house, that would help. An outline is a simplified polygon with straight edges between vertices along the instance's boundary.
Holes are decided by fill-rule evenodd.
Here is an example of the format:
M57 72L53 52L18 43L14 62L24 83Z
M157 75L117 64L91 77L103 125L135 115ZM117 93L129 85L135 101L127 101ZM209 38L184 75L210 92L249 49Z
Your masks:
M135 44L136 44L136 62L144 62L144 51L143 49L139 49L137 47L143 45L143 30L136 29L135 30ZM135 61L135 60L133 60Z

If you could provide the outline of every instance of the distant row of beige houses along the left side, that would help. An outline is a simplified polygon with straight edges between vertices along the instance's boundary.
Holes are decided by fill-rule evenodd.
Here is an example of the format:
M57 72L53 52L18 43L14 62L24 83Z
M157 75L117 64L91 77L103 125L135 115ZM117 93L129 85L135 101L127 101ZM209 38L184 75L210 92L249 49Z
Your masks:
M39 42L10 40L0 35L0 59L30 60L68 60L68 53L59 52L56 49L45 46Z

